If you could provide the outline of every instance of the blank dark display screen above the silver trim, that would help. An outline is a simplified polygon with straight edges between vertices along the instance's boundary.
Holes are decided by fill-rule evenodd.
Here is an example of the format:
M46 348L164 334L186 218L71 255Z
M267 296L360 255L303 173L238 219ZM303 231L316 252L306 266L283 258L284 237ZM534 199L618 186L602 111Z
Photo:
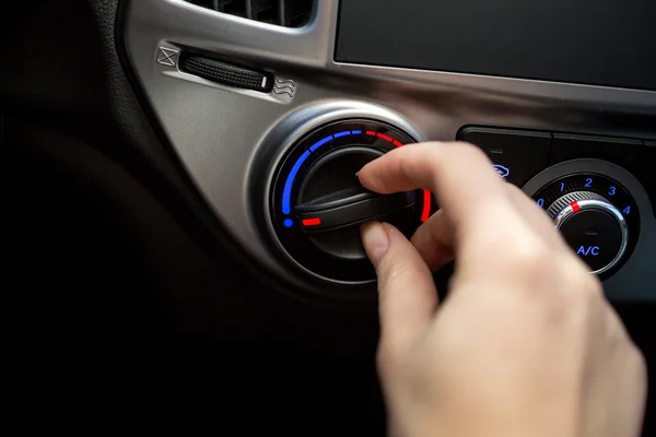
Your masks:
M656 91L656 0L342 0L336 60Z

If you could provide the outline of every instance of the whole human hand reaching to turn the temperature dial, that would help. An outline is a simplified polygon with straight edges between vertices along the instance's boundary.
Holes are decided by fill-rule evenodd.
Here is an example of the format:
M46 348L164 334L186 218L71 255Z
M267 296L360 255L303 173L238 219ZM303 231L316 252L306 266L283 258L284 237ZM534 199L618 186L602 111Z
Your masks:
M549 217L477 147L407 145L359 177L379 193L429 189L442 206L412 243L388 224L363 229L390 435L640 435L642 354ZM454 257L438 307L431 271Z

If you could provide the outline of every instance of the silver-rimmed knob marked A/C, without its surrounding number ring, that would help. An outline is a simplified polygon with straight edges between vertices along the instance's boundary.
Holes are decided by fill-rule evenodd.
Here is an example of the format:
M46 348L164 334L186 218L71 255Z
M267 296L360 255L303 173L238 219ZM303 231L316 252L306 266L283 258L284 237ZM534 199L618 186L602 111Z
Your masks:
M624 256L629 225L622 212L602 196L573 191L557 199L547 213L593 273L612 269Z

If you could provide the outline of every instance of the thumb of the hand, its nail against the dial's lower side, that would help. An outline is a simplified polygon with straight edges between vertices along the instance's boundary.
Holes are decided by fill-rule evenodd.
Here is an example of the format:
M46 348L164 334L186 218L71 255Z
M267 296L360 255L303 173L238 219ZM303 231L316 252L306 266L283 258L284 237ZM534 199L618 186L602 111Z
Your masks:
M396 227L370 223L362 241L378 276L379 352L396 361L431 323L437 306L433 276L414 246Z

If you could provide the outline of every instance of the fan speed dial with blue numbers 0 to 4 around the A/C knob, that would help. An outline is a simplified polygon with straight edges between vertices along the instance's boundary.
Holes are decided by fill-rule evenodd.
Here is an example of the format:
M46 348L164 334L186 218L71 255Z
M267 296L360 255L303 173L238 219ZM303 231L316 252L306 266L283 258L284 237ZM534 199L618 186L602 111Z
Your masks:
M563 176L542 187L534 198L595 274L612 273L635 246L640 231L637 205L609 177Z

